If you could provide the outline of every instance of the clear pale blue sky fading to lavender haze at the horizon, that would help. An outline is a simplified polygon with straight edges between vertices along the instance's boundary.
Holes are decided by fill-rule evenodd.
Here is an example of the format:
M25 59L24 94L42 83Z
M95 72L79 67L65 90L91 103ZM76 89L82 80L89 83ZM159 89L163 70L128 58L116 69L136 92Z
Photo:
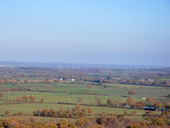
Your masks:
M170 1L1 0L0 61L170 66Z

